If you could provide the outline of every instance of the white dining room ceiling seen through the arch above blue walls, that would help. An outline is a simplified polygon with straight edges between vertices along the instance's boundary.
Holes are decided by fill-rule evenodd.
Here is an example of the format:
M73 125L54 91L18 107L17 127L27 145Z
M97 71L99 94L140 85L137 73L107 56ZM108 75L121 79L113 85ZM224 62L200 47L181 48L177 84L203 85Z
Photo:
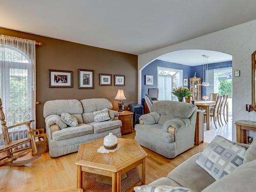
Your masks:
M208 50L180 50L174 51L171 53L164 54L157 59L164 60L168 62L175 62L187 66L198 66L203 65L202 55L207 55L208 63L216 63L223 61L232 60L232 55L226 53L221 53L217 51L208 51Z

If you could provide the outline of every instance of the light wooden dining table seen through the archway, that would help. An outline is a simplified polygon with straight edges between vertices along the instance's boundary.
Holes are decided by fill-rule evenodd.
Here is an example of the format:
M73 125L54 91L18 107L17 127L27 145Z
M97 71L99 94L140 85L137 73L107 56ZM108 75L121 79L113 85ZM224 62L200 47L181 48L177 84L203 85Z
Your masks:
M199 109L204 109L206 113L206 130L210 130L210 109L214 108L216 101L195 101L195 105ZM226 121L228 121L228 102L226 103ZM225 111L225 109L224 109ZM224 115L224 114L223 114Z

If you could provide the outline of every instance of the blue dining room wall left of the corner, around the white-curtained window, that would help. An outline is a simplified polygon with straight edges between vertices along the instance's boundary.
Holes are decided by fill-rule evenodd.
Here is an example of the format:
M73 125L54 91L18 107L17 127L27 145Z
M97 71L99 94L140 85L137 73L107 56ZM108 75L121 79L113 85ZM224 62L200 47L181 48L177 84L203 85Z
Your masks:
M181 65L179 63L167 62L162 60L154 60L150 64L148 64L141 72L141 98L144 98L144 95L147 94L147 89L149 88L157 88L157 67L164 68L172 68L183 70L183 78L189 78L194 76L193 67ZM146 86L145 85L145 75L154 75L154 86Z

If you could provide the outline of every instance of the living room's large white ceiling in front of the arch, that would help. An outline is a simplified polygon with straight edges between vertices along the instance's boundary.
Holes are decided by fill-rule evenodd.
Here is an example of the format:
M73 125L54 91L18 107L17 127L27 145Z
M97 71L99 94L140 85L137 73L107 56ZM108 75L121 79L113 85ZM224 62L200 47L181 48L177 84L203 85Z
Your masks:
M254 20L255 10L255 0L1 0L0 26L141 54Z

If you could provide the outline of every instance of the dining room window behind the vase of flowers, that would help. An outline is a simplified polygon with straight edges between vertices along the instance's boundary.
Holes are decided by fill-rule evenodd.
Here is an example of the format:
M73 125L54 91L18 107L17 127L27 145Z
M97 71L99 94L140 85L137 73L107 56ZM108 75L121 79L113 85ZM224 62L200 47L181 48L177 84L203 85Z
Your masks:
M173 89L182 86L183 71L158 67L157 72L158 99L173 100Z

